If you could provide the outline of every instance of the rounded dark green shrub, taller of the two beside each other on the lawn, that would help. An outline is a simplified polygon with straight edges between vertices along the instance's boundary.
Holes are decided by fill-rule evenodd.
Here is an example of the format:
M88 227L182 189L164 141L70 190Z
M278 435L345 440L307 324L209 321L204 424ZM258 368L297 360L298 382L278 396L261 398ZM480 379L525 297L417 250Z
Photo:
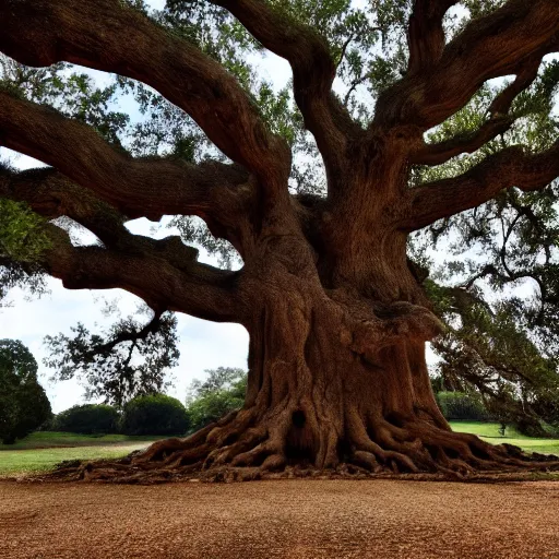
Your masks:
M126 435L185 435L185 406L165 394L136 396L124 406L121 431Z

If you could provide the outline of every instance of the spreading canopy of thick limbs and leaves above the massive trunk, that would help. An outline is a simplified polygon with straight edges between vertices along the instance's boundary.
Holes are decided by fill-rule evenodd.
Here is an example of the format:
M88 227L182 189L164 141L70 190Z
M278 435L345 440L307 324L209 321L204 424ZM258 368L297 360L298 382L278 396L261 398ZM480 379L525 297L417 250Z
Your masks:
M254 270L271 273L262 262L273 247L325 289L350 285L388 305L399 296L362 265L381 224L395 243L411 239L418 281L436 267L435 241L454 246L426 284L451 328L436 346L455 365L447 370L467 347L483 366L466 369L487 379L525 378L533 352L555 371L557 0L171 0L160 12L0 0L0 145L47 165L1 168L0 203L19 204L0 224L4 285L45 272L68 288L126 289L156 316L246 324ZM269 53L289 64L288 83L262 78ZM70 64L105 72L108 85ZM141 118L116 110L123 94ZM180 237L126 227L163 216ZM98 243L74 246L68 219ZM22 223L32 245L11 240L10 224ZM265 249L254 242L262 230ZM202 264L185 241L245 266ZM535 289L513 290L526 281ZM401 308L376 343L406 329L430 338L438 325L418 312ZM473 328L521 336L528 365L510 372L508 353L481 347Z

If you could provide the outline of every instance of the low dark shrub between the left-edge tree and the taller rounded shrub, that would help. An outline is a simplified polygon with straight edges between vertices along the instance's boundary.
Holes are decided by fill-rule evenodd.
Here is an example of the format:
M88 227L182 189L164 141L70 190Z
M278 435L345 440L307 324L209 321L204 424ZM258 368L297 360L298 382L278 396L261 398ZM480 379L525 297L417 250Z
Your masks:
M106 404L72 406L57 415L52 427L57 431L82 435L107 435L118 431L119 413Z

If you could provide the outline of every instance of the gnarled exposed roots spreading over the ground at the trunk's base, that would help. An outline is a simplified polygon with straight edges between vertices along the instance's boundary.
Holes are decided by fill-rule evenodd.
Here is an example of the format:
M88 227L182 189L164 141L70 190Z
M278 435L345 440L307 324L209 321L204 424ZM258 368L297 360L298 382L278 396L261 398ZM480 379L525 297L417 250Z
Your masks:
M186 439L167 439L117 461L61 464L48 477L154 484L173 480L233 481L278 477L392 477L480 480L533 472L559 472L559 457L526 454L510 444L491 445L415 419L364 421L346 415L345 450L332 463L332 433L321 437L314 462L305 448L289 449L292 408L254 425L254 409L235 412ZM289 420L287 420L289 418ZM322 464L318 460L322 460ZM326 461L331 461L328 463ZM43 477L44 478L44 477Z

